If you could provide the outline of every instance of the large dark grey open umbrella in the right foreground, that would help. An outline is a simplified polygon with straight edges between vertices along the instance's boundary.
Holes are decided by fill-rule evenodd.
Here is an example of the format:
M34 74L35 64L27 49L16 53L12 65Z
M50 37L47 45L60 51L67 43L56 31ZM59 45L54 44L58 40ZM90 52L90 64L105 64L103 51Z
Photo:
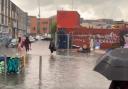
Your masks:
M101 57L94 70L109 80L128 80L128 48L117 48Z

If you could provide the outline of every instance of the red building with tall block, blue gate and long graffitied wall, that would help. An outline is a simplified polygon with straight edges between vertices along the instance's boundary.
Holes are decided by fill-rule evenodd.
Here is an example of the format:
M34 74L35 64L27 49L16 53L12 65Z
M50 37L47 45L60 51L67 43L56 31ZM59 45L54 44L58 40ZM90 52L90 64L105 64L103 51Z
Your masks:
M111 20L107 20L106 23L111 22ZM80 26L80 15L77 11L58 11L57 28L56 45L60 49L69 48L72 45L83 46L85 44L90 47L90 39L99 42L102 49L118 47L120 32L128 30L126 26L125 29L82 27ZM124 28L124 25L121 25L121 28Z

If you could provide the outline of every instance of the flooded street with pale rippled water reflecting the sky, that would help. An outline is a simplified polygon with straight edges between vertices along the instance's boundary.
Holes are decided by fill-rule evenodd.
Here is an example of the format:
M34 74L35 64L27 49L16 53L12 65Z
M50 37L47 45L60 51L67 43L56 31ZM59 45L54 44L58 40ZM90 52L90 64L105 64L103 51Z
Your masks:
M108 89L110 81L93 71L100 54L59 51L50 54L49 42L32 44L24 70L1 75L0 89ZM39 56L42 76L39 81Z

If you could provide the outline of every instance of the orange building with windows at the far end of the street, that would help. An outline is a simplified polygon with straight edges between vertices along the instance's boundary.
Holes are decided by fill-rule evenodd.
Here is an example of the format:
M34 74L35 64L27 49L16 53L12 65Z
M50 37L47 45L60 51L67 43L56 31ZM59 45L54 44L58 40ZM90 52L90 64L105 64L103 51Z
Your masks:
M50 19L37 18L36 16L28 17L28 33L31 35L36 34L49 34L50 33Z

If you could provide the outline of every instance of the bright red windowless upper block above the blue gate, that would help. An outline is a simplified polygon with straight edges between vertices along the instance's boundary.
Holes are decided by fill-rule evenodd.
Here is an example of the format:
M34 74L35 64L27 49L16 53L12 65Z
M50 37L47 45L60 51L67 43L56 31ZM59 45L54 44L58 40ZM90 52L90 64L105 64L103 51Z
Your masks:
M80 15L77 11L57 11L57 28L67 29L80 27Z

